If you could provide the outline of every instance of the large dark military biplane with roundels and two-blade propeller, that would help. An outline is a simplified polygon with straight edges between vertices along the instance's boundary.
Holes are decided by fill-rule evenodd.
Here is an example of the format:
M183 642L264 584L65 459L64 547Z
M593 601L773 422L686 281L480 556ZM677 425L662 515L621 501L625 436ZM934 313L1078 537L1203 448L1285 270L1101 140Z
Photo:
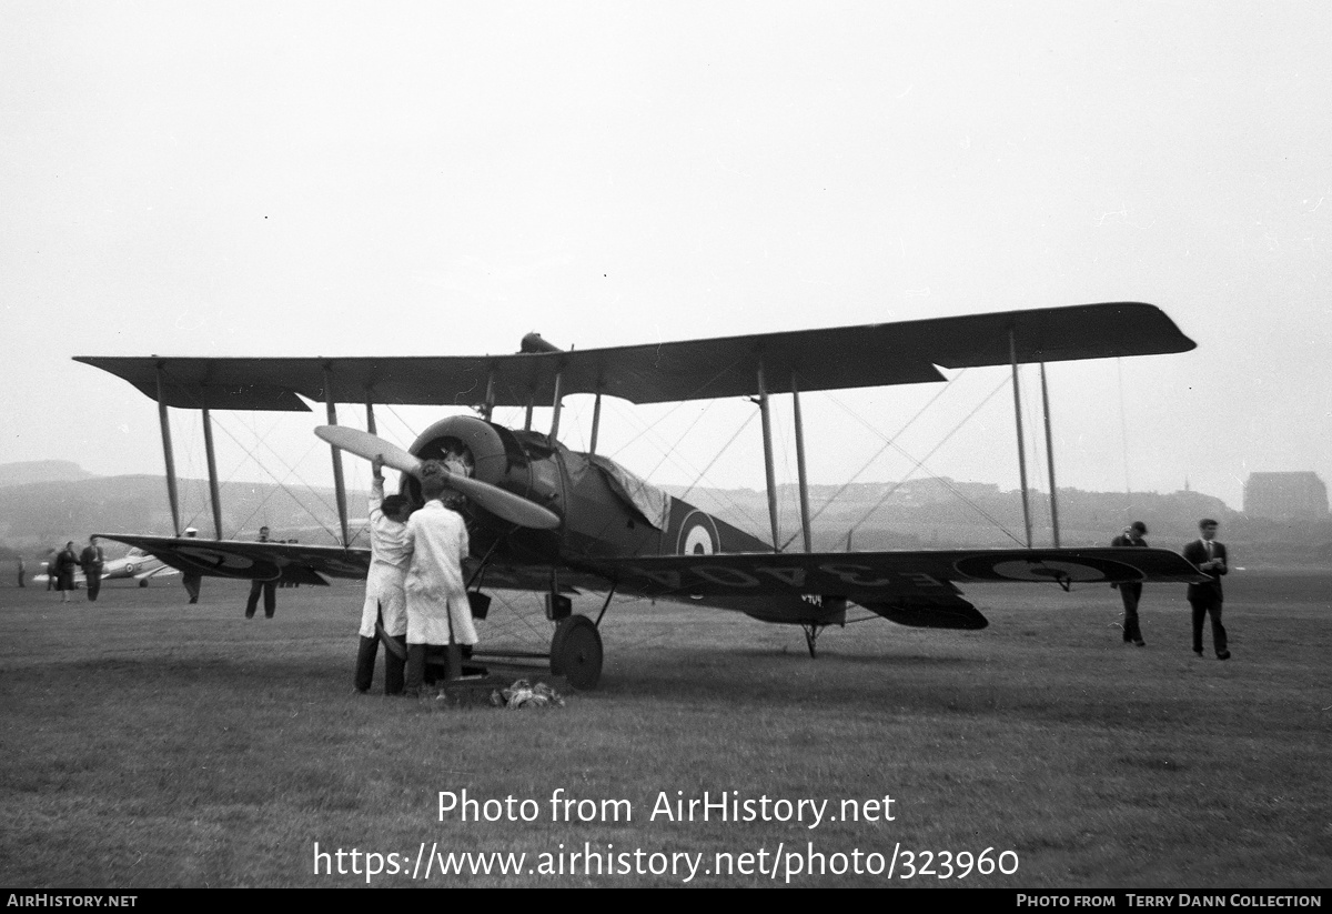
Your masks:
M946 381L942 368L1011 366L1015 404L1023 364L1179 353L1193 349L1155 305L1110 302L943 317L867 326L757 333L725 338L562 350L529 334L513 354L353 358L80 357L159 404L166 488L176 536L99 534L143 549L168 565L229 578L328 584L364 577L369 550L348 544L341 450L382 454L402 470L402 494L420 501L413 476L424 460L444 460L464 497L472 540L466 569L473 605L485 592L545 593L554 622L549 661L579 687L601 676L598 626L615 594L678 600L802 626L811 657L819 633L862 606L892 622L982 629L984 616L963 596L968 581L1127 582L1197 580L1164 549L1031 548L1024 458L1022 490L1027 548L928 552L814 552L805 465L801 394ZM1044 385L1044 370L1042 370ZM593 394L586 452L559 441L562 398ZM803 550L782 552L770 426L771 397L790 394ZM602 397L631 404L745 397L759 408L771 541L746 533L638 478L597 453ZM214 409L301 410L324 402L330 442L338 546L241 542L222 538L209 413ZM342 426L338 405L364 405L366 430ZM472 406L426 428L406 450L376 437L374 405ZM550 405L546 432L533 408ZM492 421L497 406L526 408L525 428ZM202 413L216 540L180 537L168 408ZM1018 446L1022 418L1018 412ZM1048 410L1047 410L1047 453ZM1051 498L1054 464L1051 462ZM599 613L575 614L569 594L605 593Z

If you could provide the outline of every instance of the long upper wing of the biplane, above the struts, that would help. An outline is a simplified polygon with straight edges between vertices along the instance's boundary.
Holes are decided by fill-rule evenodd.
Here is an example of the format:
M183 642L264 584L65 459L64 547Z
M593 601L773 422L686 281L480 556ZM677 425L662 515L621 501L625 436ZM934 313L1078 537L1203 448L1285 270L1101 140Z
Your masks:
M1187 352L1193 341L1155 305L1126 301L790 330L611 349L385 358L112 358L80 356L153 400L185 409L308 410L336 402L500 406L605 393L673 402L758 393L942 381L967 368ZM300 394L300 396L297 396Z

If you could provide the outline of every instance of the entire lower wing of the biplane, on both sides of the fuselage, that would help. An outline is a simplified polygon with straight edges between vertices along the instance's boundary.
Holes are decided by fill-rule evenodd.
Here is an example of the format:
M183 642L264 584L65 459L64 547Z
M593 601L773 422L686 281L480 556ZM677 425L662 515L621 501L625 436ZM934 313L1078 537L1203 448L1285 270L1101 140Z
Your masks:
M174 570L261 581L328 584L364 578L369 549L240 540L99 534L139 546ZM1167 549L970 549L938 552L731 553L597 558L573 568L489 565L476 586L549 590L551 572L565 593L577 588L678 600L747 613L769 622L826 625L848 602L900 625L983 629L988 622L958 582L1122 584L1205 581ZM169 572L163 572L169 573Z

